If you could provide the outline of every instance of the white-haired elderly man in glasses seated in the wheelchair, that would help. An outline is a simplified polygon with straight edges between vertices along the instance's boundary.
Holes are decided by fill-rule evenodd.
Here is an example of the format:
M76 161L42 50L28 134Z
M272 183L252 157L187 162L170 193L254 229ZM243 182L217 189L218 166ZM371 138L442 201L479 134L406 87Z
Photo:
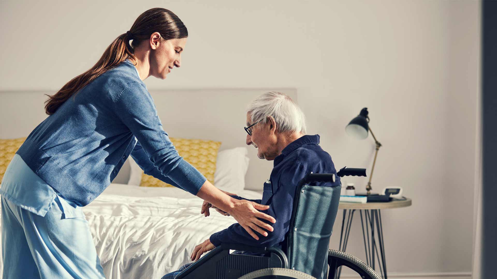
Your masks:
M257 97L247 110L248 145L257 148L257 156L268 161L274 160L269 183L264 183L262 200L251 200L269 205L263 212L273 216L276 223L273 231L264 231L253 226L244 229L236 223L216 232L209 239L197 245L190 259L196 261L200 256L222 242L242 243L251 246L279 247L285 251L286 235L292 216L295 188L299 181L309 173L334 173L336 170L331 156L319 146L319 135L306 135L305 117L299 106L287 95L268 92ZM328 186L340 185L340 178ZM321 186L321 185L320 185ZM324 185L323 185L324 186ZM228 193L236 199L244 199ZM210 205L204 202L202 213L209 215ZM226 215L220 209L216 209ZM263 227L265 221L260 220ZM248 233L248 232L249 233ZM254 239L254 236L256 239ZM243 251L236 253L252 254ZM253 255L253 254L252 254ZM173 279L188 265L163 279Z

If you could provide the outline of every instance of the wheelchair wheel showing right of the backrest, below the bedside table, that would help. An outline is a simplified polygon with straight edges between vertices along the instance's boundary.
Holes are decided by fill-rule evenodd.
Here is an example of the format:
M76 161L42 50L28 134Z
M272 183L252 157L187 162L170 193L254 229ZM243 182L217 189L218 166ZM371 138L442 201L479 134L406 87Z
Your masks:
M362 279L381 279L381 277L363 261L342 251L328 250L328 264L330 265L329 279L336 276L336 271L340 266L346 266L357 272Z

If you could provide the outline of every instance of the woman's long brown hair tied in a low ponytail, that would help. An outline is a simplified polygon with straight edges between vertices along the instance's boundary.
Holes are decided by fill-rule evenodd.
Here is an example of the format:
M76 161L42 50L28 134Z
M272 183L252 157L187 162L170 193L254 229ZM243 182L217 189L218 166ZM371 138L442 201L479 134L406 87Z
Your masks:
M45 101L46 114L54 114L66 100L75 95L81 88L126 59L133 59L136 63L133 48L140 45L141 42L149 40L154 32L161 34L161 40L188 37L188 30L185 25L172 11L165 8L152 8L145 11L140 14L133 26L131 26L128 32L131 34L124 33L119 35L107 47L100 60L91 69L71 79L54 95L47 95L49 99ZM130 40L133 40L131 45Z

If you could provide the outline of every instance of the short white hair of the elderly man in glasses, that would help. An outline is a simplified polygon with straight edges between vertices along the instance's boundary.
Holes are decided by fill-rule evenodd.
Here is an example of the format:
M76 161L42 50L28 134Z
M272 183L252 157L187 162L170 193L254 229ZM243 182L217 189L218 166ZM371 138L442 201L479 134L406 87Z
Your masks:
M281 92L267 92L253 100L247 108L251 123L267 123L267 117L276 121L279 133L296 132L306 134L306 119L300 107L292 98Z

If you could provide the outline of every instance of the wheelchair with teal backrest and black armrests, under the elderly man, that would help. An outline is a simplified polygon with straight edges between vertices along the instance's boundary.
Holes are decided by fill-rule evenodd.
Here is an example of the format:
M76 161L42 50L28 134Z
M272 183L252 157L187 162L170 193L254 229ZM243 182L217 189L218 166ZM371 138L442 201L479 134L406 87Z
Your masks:
M366 169L342 168L343 176L366 176ZM334 174L308 174L296 188L290 228L278 247L254 247L222 243L176 276L176 279L334 279L346 266L362 279L380 279L361 260L329 250L331 231L338 211L340 187L310 186L334 182ZM230 250L262 256L230 254Z

